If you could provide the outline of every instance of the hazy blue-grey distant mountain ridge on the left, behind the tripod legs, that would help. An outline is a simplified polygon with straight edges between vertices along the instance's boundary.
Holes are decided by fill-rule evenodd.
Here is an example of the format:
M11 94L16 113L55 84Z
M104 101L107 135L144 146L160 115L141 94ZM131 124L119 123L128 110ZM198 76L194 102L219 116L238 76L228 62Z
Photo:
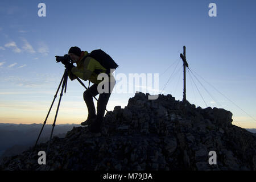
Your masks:
M28 147L35 144L39 132L43 124L14 124L14 123L0 123L0 160L4 156L11 156L20 154ZM56 125L53 135L57 137L65 137L65 134L77 127L76 124ZM45 125L39 143L47 142L52 125ZM7 150L7 151L6 151Z

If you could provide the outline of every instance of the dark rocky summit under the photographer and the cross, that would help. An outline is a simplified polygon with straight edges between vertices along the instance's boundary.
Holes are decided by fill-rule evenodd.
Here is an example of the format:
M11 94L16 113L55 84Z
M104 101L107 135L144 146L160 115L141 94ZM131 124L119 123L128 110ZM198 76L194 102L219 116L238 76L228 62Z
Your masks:
M73 127L65 138L3 160L1 170L169 171L255 170L256 136L232 125L232 113L195 107L170 94L136 93L106 113L101 133Z

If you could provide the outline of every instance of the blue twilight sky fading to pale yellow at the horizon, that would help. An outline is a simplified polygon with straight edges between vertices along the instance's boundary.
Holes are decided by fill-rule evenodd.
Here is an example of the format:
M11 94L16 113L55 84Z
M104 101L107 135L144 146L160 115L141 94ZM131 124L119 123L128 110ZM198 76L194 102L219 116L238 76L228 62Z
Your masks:
M45 16L39 16L39 3L46 5ZM209 16L210 3L216 16ZM253 0L1 0L0 122L44 122L64 73L55 55L72 46L100 48L119 65L115 88L122 92L112 93L106 109L124 108L143 88L181 101L185 46L189 103L224 108L233 113L233 125L256 128L255 6ZM150 88L129 78L135 73L159 77ZM57 124L85 121L84 91L78 81L68 81ZM47 123L53 123L58 101L59 93Z

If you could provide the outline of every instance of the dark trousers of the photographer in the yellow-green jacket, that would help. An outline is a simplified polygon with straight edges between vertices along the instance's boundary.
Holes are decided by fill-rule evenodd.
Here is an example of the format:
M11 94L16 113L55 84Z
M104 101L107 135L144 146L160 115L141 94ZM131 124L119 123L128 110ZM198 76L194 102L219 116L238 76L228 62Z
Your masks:
M84 101L88 108L88 119L96 116L97 121L101 122L102 119L104 118L106 105L108 104L109 97L110 97L112 90L114 88L114 85L115 85L115 81L107 82L107 83L109 85L108 92L101 93L100 96L98 97L97 115L96 115L96 110L94 107L93 97L95 97L95 96L97 96L97 94L99 94L98 84L93 84L92 86L90 86L90 88L85 90ZM104 85L102 86L102 89L104 89Z

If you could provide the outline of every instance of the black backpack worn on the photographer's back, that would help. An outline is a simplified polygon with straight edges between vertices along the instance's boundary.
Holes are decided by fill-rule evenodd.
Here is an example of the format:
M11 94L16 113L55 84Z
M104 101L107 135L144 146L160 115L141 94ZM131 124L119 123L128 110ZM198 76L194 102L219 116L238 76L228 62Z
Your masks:
M117 63L110 57L106 52L102 51L101 49L96 49L89 53L86 57L92 57L93 59L97 60L102 67L106 68L106 74L110 73L110 69L116 69L119 67ZM84 59L85 59L84 58ZM100 73L101 70L96 69L94 72Z

